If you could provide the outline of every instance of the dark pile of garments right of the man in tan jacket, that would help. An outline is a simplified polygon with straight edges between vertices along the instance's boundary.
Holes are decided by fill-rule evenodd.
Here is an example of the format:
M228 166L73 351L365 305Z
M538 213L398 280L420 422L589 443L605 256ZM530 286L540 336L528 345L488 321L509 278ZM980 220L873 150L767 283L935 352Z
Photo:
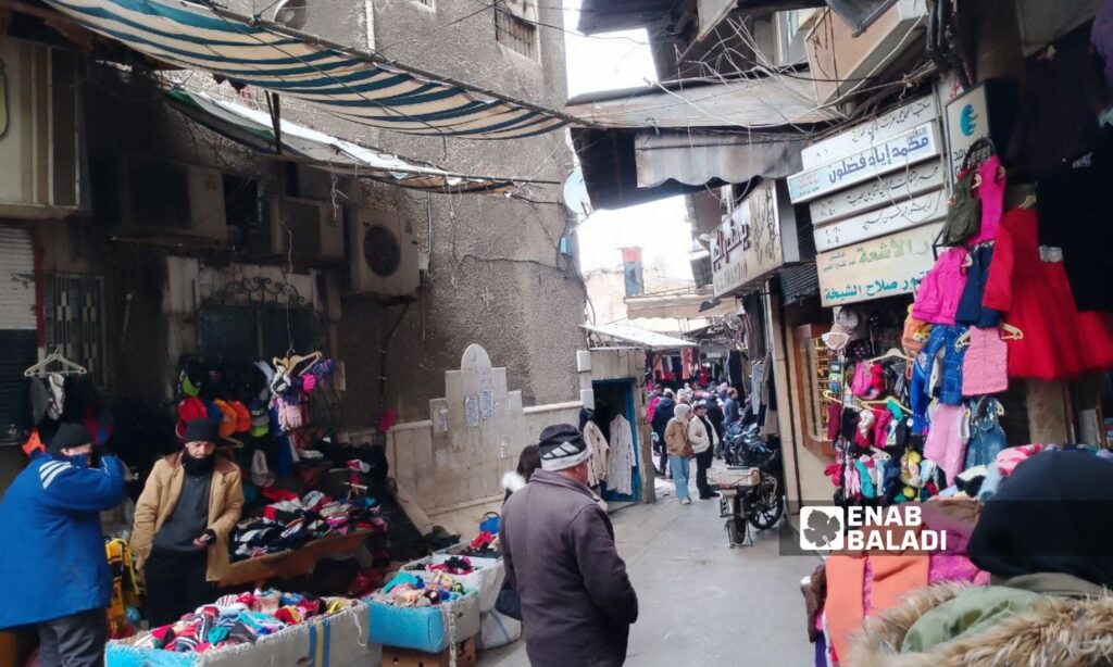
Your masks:
M244 560L298 549L306 542L328 535L347 535L358 530L386 532L386 521L378 516L374 498L334 500L321 491L309 491L303 498L280 494L282 499L268 505L263 516L240 521L232 539L232 559Z

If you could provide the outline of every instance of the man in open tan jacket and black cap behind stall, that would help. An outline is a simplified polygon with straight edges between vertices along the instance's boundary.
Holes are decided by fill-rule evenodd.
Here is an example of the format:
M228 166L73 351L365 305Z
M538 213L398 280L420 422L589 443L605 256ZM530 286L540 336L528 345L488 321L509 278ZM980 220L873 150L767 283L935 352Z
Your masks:
M216 455L217 426L186 424L185 447L155 464L136 504L131 552L147 580L150 627L215 598L228 573L228 534L244 507L239 468Z

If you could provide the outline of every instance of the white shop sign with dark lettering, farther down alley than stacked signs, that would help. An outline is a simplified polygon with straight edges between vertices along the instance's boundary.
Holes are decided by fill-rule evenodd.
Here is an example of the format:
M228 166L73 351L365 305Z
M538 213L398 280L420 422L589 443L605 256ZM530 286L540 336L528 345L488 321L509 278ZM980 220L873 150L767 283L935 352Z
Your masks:
M796 215L784 188L784 181L762 181L719 226L711 239L715 296L800 261Z

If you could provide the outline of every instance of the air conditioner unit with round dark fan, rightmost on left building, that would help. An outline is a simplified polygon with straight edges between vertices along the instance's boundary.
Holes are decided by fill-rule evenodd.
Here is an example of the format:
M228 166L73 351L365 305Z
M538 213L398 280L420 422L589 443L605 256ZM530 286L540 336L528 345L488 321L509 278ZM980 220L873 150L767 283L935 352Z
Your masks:
M398 213L359 209L348 237L349 295L412 297L421 282L417 240Z

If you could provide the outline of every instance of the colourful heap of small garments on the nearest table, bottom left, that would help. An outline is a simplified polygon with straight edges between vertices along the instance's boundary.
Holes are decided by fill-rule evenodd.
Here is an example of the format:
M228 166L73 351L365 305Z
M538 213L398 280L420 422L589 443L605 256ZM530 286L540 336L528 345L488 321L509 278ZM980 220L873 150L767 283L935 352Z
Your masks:
M348 598L318 598L269 589L226 595L173 625L152 629L135 646L201 654L227 646L255 644L259 637L357 604Z

